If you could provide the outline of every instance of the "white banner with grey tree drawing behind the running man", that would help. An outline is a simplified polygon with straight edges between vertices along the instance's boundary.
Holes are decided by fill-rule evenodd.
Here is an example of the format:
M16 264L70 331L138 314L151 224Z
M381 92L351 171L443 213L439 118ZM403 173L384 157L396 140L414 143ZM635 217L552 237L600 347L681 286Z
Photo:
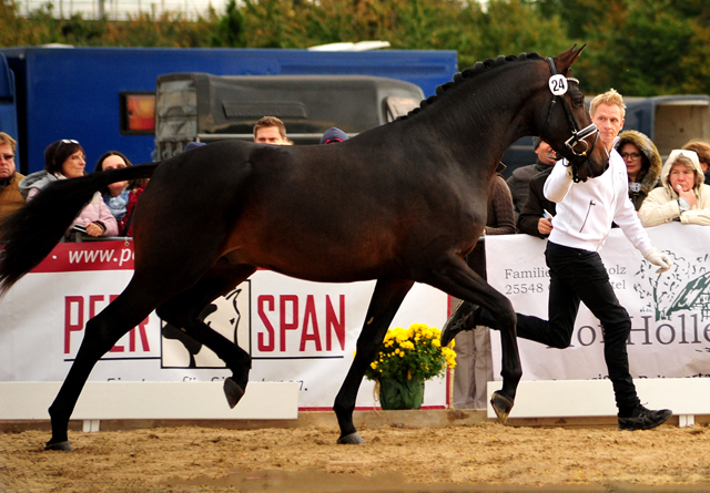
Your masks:
M669 223L647 229L651 243L673 261L671 269L643 259L620 229L611 230L599 254L621 306L631 317L628 342L633 378L710 377L710 227ZM486 237L488 283L519 314L547 319L547 240L528 235ZM491 332L493 362L500 379L500 338ZM567 349L518 338L524 380L608 378L604 336L580 306Z

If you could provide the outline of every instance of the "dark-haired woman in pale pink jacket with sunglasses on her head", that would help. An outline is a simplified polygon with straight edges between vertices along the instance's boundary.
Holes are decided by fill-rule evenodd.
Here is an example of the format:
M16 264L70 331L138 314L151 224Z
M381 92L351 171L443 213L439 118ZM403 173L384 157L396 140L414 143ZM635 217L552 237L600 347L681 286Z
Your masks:
M84 150L77 141L57 141L44 151L44 170L26 176L20 182L20 193L27 201L37 195L40 189L57 179L78 178L85 174L87 157ZM79 213L72 223L72 228L87 235L115 236L119 226L103 203L101 193L97 192L91 202ZM71 233L70 228L67 233Z

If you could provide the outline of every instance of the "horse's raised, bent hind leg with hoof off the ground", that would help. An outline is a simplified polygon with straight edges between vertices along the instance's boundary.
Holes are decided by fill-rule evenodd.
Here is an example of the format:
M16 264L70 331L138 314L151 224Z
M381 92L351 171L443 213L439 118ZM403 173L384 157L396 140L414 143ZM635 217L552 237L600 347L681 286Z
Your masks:
M156 310L161 319L182 329L187 336L210 348L232 370L232 377L224 380L224 393L231 408L234 408L244 396L252 358L233 341L210 328L197 316L209 302L234 289L255 270L253 266L234 266L222 259L194 286L168 300Z

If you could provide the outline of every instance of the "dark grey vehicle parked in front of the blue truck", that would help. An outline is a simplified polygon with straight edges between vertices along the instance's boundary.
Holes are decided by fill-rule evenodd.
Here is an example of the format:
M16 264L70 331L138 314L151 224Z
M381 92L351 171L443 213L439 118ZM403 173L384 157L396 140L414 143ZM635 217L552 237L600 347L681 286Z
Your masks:
M418 106L409 82L371 75L211 75L173 73L155 84L155 158L187 143L253 140L262 116L276 116L296 145L317 144L336 126L349 136Z

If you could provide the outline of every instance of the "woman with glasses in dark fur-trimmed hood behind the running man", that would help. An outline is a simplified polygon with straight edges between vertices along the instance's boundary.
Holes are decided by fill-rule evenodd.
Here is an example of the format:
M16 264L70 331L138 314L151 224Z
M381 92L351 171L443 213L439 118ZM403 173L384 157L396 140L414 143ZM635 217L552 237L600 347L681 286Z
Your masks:
M629 198L638 210L650 191L656 188L661 174L661 155L641 132L628 130L619 134L613 148L621 155L629 176Z

